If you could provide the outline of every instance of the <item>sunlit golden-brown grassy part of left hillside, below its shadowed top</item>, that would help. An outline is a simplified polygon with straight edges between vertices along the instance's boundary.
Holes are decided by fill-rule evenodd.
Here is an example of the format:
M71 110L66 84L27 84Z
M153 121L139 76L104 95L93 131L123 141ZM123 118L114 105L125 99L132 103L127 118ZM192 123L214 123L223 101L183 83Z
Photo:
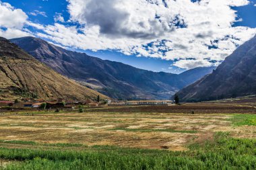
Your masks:
M79 85L59 75L52 69L35 60L22 60L19 58L0 58L0 97L13 99L17 97L11 87L27 89L38 94L39 98L83 100L88 98L96 99L98 95L106 96Z

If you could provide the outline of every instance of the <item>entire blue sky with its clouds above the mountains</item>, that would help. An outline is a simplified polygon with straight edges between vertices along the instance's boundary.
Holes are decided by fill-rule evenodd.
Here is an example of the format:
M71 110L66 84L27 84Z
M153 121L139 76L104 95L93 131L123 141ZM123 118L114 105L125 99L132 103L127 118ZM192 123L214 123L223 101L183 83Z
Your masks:
M0 11L0 35L37 36L102 59L181 73L218 65L254 36L255 4L256 0L1 0L0 10L7 12L1 16Z

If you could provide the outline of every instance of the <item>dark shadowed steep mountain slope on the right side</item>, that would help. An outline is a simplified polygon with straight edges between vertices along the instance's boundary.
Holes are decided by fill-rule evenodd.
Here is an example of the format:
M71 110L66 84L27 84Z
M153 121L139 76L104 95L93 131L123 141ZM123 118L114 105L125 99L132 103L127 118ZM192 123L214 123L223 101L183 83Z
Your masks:
M179 91L182 101L256 94L256 36L238 47L212 74Z

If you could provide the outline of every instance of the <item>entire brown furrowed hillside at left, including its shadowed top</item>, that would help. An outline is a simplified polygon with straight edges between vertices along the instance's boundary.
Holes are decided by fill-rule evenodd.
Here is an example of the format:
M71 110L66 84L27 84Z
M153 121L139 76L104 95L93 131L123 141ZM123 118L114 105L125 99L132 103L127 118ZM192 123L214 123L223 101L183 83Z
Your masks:
M101 95L38 62L17 45L0 38L0 99L96 99ZM106 97L101 95L101 97Z

